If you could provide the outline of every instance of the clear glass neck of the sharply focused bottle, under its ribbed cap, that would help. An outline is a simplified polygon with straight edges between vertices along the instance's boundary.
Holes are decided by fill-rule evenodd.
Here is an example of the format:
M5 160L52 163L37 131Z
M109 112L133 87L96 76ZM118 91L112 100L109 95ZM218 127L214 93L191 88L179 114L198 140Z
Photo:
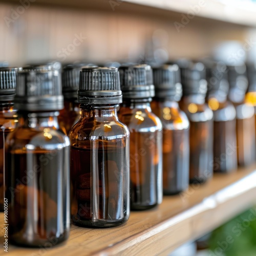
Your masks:
M81 116L86 118L117 118L118 104L114 105L86 105L80 104Z

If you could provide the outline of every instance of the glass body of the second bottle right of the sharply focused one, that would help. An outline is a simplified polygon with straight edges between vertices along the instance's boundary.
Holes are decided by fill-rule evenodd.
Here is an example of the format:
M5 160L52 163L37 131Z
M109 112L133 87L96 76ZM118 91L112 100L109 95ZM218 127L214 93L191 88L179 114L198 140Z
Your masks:
M151 105L163 124L163 193L175 195L189 183L189 121L172 99Z

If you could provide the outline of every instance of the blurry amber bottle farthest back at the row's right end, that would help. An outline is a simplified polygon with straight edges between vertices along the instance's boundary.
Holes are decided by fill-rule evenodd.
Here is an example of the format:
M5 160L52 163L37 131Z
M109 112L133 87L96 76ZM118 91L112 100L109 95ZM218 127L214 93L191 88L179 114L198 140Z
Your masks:
M254 108L245 103L245 94L248 89L246 66L229 66L228 80L230 85L228 98L237 112L238 164L247 166L255 161L256 150Z

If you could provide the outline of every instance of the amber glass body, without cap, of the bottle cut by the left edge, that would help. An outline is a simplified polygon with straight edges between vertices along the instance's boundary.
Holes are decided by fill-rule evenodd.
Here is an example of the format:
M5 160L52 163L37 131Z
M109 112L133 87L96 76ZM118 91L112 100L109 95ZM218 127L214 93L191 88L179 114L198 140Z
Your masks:
M5 140L7 135L17 126L18 117L13 104L0 102L0 210L4 210L5 197Z

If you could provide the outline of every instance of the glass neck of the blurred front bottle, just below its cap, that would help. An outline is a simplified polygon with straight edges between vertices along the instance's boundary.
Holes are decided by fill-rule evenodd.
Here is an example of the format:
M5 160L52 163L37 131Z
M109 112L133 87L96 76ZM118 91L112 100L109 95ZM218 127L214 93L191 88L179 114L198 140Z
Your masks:
M59 128L57 116L59 112L25 112L19 111L19 126L26 128L53 127Z

